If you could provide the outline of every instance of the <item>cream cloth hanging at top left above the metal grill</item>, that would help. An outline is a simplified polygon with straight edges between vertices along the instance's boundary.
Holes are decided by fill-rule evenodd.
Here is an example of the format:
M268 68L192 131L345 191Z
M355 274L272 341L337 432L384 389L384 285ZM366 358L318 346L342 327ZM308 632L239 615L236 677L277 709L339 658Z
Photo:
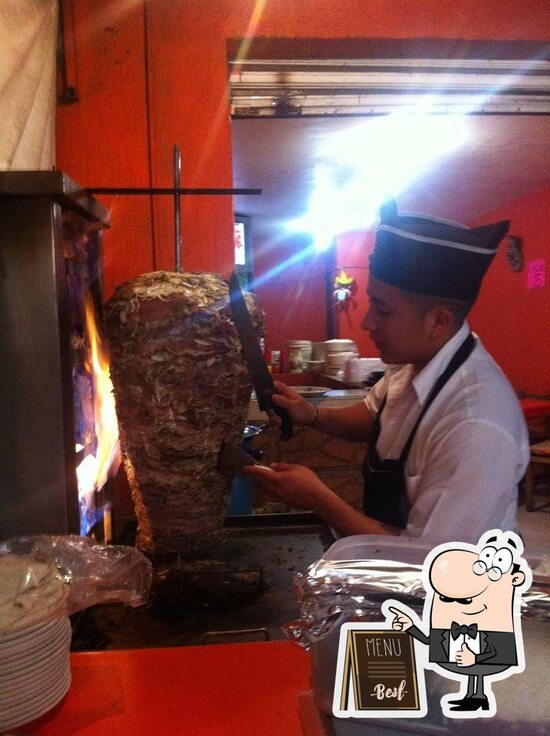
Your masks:
M55 164L57 0L0 2L0 170Z

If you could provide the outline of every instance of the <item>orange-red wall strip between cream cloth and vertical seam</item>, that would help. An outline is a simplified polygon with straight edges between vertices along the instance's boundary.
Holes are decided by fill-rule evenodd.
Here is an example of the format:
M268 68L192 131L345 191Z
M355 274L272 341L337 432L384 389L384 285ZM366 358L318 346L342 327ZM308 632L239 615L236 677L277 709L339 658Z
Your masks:
M77 104L57 109L57 168L85 187L149 186L141 3L65 3L74 13L76 59L67 45ZM72 30L72 27L70 28ZM72 40L72 39L71 39ZM76 62L76 64L75 64ZM148 197L100 197L111 211L104 291L153 269Z

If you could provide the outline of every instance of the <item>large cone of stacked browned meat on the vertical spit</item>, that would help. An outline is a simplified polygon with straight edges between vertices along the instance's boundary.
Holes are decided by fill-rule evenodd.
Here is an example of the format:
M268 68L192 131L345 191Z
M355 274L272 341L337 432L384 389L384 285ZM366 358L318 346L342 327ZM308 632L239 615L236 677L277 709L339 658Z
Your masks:
M263 314L245 299L260 335ZM228 284L147 273L119 286L105 314L137 546L192 558L223 536L232 479L218 470L220 446L242 441L252 389Z

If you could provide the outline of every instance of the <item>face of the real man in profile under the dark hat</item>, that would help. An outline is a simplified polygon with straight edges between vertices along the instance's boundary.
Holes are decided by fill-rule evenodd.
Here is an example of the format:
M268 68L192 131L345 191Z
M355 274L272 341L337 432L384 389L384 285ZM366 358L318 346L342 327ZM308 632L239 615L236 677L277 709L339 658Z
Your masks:
M426 319L407 293L371 276L367 294L370 306L361 327L370 333L384 363L424 362Z

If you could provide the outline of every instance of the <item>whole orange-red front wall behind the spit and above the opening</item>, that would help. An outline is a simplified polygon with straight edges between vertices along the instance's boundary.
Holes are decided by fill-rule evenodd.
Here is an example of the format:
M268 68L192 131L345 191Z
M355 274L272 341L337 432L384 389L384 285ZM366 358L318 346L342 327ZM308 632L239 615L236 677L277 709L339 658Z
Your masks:
M79 102L58 108L57 165L88 187L171 185L176 143L182 185L231 185L227 39L550 36L546 0L63 2L76 25ZM169 199L104 201L106 296L137 273L173 268ZM182 215L184 268L228 275L231 198L184 198Z

